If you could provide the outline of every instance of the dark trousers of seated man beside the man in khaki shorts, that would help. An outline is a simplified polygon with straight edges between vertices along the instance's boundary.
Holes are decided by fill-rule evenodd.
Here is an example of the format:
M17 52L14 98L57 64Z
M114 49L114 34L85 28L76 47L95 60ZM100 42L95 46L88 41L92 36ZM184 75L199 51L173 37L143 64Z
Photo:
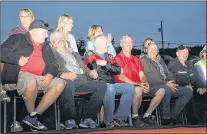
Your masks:
M66 86L60 95L62 107L60 109L61 122L68 119L75 119L75 101L74 92L91 92L91 97L84 106L82 118L95 119L100 111L105 92L106 83L97 81L71 81L65 80Z

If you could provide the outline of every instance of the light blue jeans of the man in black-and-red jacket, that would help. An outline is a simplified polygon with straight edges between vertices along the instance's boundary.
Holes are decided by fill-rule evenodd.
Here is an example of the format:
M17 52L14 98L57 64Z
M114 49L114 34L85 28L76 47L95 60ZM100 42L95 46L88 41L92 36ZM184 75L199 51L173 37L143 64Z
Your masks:
M121 93L120 105L114 114L115 110L115 95ZM107 83L107 90L104 97L104 121L109 123L115 119L126 120L130 108L132 105L132 100L134 96L134 85L127 83Z

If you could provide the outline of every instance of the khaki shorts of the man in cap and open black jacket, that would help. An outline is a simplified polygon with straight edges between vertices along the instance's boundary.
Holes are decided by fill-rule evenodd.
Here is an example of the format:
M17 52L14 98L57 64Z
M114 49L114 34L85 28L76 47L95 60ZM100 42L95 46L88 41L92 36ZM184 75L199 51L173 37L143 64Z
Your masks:
M17 90L19 95L22 95L31 80L35 79L37 81L37 89L42 92L47 92L48 89L55 87L57 84L61 83L63 79L55 77L52 82L47 87L41 87L41 76L37 76L27 72L20 72L18 76L17 84L6 84L5 89L8 91Z

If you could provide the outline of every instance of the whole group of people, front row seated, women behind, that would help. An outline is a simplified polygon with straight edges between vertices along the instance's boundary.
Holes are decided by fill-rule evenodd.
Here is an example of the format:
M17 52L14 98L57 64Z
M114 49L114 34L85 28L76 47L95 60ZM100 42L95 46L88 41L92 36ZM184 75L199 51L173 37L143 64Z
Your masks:
M116 54L111 35L104 35L100 25L92 25L83 61L71 34L72 16L59 17L50 41L46 38L52 29L43 20L35 20L30 9L20 11L19 17L21 26L13 29L1 45L1 94L17 90L28 112L22 122L32 129L47 130L47 124L38 118L58 97L63 104L60 120L65 129L99 127L95 119L100 111L100 122L107 128L129 126L131 107L134 127L155 126L152 113L159 105L161 124L175 125L194 91L206 98L206 47L194 66L187 61L189 48L180 45L177 58L167 66L152 39L144 40L143 53L137 58L131 53L132 36L125 35L120 41L122 51ZM44 96L35 107L42 92ZM75 121L75 92L91 93L79 124ZM115 111L116 94L121 98ZM152 100L141 116L143 96Z

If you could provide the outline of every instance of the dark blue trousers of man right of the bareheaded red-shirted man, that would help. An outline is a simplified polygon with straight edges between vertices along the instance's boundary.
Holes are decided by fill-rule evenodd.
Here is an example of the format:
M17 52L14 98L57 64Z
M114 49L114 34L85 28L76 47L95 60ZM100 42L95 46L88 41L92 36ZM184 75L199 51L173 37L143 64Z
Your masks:
M176 119L188 101L192 98L193 92L191 89L185 87L177 87L178 91L176 92L173 92L168 86L164 89L165 95L161 102L161 117L163 119ZM170 107L171 101L173 103L172 107Z

